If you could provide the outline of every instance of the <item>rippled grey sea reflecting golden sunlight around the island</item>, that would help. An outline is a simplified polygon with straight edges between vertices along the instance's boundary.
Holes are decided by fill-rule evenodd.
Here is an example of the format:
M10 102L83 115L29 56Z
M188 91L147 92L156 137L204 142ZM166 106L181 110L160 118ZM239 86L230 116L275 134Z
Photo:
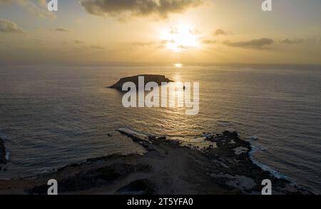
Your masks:
M106 86L142 73L200 82L200 113L123 108L122 93ZM117 128L186 138L235 130L258 150L256 161L321 193L321 68L0 67L0 137L10 153L0 178L141 151L127 138L108 137Z

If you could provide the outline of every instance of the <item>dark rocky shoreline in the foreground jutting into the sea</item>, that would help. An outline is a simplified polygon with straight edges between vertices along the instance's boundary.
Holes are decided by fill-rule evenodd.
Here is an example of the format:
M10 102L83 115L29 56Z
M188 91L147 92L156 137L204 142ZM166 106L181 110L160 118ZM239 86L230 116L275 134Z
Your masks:
M38 178L0 180L0 194L46 194L52 178L60 194L260 195L264 179L271 180L275 195L312 194L255 165L250 143L235 132L208 134L209 146L201 149L126 128L118 134L146 153L89 159Z

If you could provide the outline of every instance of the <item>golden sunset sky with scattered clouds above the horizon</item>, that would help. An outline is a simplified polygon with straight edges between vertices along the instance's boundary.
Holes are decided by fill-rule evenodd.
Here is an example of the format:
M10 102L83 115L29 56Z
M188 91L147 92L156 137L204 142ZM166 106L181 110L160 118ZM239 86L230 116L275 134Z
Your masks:
M320 64L320 1L261 3L0 0L0 63Z

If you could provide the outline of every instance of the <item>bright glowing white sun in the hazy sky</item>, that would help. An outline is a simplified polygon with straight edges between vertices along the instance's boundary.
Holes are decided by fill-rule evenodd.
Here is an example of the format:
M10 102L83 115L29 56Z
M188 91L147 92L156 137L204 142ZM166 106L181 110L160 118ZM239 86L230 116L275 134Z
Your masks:
M180 52L200 48L198 31L188 25L179 25L163 30L161 39L167 49Z

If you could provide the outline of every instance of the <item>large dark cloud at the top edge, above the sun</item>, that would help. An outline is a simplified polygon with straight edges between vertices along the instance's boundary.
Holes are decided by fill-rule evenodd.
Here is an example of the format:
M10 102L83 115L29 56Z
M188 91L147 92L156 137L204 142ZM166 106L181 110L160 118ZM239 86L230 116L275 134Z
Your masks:
M203 4L205 0L81 0L90 14L97 16L158 16L183 13Z

